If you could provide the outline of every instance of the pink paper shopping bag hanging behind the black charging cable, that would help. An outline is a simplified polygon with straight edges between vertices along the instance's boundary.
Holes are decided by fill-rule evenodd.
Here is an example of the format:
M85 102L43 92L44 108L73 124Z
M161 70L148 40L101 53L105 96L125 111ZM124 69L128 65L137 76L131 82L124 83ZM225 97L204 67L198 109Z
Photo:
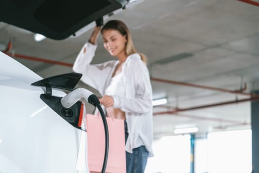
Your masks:
M126 173L124 120L107 117L109 155L106 173ZM90 173L100 173L105 152L105 132L101 116L86 115L88 166Z

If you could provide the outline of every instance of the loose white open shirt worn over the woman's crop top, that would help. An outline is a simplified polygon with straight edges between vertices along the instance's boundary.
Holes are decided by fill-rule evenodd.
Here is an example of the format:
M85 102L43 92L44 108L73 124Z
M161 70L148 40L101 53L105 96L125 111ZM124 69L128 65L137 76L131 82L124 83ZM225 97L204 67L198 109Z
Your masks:
M83 53L84 48L86 48L85 53ZM104 95L118 60L90 64L96 48L97 45L85 43L76 57L73 71L82 73L81 81ZM114 100L113 107L120 108L126 114L129 133L126 151L132 153L132 149L145 145L149 157L153 156L151 149L153 140L152 88L148 68L138 53L127 57L122 65L122 78L125 95L111 96Z

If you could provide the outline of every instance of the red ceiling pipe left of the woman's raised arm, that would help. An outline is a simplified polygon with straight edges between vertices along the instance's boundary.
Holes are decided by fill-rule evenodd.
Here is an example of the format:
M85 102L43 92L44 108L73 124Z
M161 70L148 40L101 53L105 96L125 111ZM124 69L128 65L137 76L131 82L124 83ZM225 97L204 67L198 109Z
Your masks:
M14 54L13 55L12 53L8 53L8 52L4 52L4 53L6 55L14 56L16 58L23 58L23 59L33 60L33 61L40 61L40 62L45 62L45 63L50 63L50 64L57 64L57 65L73 67L73 64L71 64L71 63L66 63L66 62L61 62L61 61L54 61L54 60L43 59L43 58L37 58L37 57L21 55L21 54Z

